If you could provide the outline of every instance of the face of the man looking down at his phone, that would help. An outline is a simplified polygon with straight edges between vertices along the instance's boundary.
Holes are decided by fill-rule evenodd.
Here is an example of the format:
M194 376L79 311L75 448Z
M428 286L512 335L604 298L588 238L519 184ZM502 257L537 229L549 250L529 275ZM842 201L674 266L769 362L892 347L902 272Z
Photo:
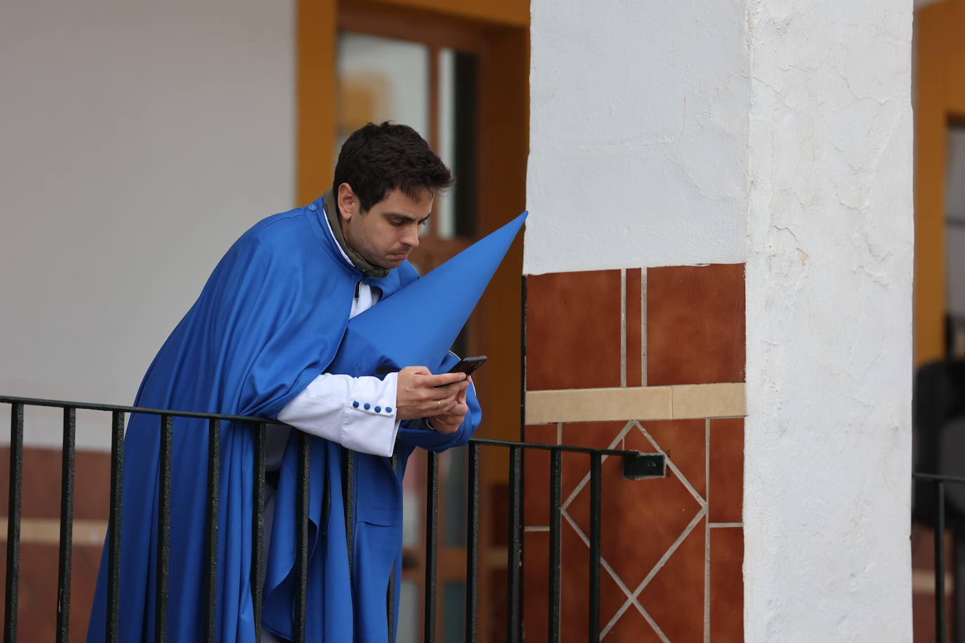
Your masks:
M412 199L393 190L367 211L347 183L339 186L339 210L345 241L370 263L397 267L419 246L419 230L432 210L432 193L424 190Z

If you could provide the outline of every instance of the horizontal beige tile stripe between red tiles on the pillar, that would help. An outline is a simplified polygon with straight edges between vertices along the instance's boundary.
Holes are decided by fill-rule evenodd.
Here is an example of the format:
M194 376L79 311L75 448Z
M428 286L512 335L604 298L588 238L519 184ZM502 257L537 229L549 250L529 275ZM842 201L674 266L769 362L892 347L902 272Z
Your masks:
M743 383L526 392L526 423L747 415Z

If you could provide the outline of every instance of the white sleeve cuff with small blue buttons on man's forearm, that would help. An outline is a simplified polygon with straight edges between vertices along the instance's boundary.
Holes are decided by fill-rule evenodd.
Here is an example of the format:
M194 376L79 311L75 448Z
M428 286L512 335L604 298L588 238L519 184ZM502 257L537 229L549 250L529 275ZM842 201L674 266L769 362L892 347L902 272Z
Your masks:
M322 373L291 400L278 420L345 448L389 457L396 447L399 373L385 379Z

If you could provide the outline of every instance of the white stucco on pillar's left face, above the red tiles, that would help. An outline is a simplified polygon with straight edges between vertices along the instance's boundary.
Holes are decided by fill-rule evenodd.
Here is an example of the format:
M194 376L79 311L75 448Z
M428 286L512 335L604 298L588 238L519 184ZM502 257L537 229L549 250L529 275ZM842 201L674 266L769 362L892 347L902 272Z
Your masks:
M524 272L742 261L743 0L531 8Z

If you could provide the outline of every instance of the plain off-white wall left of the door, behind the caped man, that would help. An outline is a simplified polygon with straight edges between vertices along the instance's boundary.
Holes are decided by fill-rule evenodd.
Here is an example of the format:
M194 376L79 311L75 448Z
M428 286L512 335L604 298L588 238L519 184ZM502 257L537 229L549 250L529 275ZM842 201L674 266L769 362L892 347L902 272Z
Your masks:
M3 3L0 391L131 403L237 234L292 205L293 12ZM59 443L45 417L28 442ZM106 447L80 419L78 445Z

